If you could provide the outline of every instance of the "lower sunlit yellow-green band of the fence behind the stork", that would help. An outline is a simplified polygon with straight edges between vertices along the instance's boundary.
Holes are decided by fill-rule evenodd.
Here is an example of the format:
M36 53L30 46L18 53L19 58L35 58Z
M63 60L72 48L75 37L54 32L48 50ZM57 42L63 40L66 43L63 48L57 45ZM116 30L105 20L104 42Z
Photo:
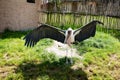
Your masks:
M106 16L91 16L81 14L61 14L61 13L41 13L39 19L42 23L47 23L56 26L83 26L92 20L99 20L104 23L104 28L107 29L119 29L120 30L120 19ZM74 27L73 27L74 28Z

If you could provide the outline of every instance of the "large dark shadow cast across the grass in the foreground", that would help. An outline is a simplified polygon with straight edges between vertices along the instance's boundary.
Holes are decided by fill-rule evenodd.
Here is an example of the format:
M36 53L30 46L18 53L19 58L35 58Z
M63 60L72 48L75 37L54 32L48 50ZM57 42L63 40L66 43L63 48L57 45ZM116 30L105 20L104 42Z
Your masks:
M35 64L27 62L19 65L16 73L22 72L25 80L88 80L87 74L81 69L73 70L70 64L65 64L65 58L55 62Z

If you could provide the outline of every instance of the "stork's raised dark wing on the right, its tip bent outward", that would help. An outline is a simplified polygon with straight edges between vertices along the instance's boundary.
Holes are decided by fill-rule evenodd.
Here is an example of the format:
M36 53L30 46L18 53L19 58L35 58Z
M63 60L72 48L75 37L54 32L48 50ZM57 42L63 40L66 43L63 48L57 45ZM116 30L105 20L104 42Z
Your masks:
M100 21L92 21L90 23L88 23L87 25L77 29L74 31L74 35L75 35L75 41L83 41L85 39L88 39L89 37L94 37L95 33L96 33L96 25L97 23L99 24L103 24Z

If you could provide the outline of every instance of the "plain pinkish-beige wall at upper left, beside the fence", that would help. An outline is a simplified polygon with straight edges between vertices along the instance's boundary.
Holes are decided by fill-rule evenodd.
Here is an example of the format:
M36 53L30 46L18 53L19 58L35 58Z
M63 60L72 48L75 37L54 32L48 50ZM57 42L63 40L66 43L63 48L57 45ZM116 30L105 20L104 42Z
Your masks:
M27 0L0 0L0 32L27 30L38 25L40 0L28 3Z

